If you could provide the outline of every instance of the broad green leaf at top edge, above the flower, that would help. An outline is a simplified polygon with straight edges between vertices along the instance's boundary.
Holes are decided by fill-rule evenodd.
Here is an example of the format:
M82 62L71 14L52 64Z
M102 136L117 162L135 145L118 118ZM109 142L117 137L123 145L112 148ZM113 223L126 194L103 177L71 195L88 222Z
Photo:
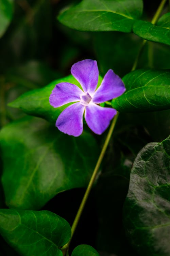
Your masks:
M131 32L141 16L141 0L83 0L58 17L64 25L82 31Z

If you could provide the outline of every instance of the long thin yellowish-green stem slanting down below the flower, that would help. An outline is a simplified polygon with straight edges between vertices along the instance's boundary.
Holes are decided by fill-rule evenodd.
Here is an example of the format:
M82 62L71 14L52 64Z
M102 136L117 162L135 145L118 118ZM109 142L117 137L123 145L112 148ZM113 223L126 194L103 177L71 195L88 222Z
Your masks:
M112 121L111 127L110 127L110 129L109 129L109 131L108 131L106 140L105 140L104 145L103 145L103 147L102 147L102 151L101 151L100 156L99 156L99 158L98 158L98 161L97 161L97 163L96 163L96 167L95 167L94 172L93 172L93 174L92 174L92 176L91 176L90 182L89 182L89 184L88 184L88 187L87 187L87 189L86 189L86 192L85 192L84 197L83 197L83 199L82 199L82 202L81 202L81 204L80 204L80 207L79 207L79 210L78 210L78 212L77 212L77 215L75 216L73 225L72 225L72 227L71 227L72 233L71 233L70 241L69 241L67 244L65 244L65 245L61 248L62 250L66 250L66 249L68 249L68 247L69 247L69 244L70 244L70 242L71 242L71 239L72 239L72 237L73 237L73 234L74 234L74 232L75 232L75 229L76 229L76 227L77 227L77 225L78 225L79 219L80 219L80 217L81 217L82 211L83 211L84 206L85 206L85 204L86 204L87 198L88 198L89 193L90 193L90 191L91 191L92 185L93 185L93 183L94 183L94 181L95 181L95 179L96 179L96 175L97 175L97 173L98 173L100 164L101 164L101 162L102 162L102 160L103 160L103 157L104 157L104 154L105 154L105 152L106 152L106 148L107 148L108 143L109 143L109 141L110 141L110 139L111 139L113 130L114 130L115 125L116 125L116 121L117 121L118 115L119 115L119 112L117 112L116 116L114 117L114 119L113 119L113 121Z

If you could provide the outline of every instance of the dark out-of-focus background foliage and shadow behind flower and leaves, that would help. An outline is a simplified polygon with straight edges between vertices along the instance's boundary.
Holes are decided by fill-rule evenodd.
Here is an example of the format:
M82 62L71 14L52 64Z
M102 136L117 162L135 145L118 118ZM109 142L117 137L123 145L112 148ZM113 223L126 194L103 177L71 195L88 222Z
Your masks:
M96 59L101 75L109 68L121 77L131 71L142 39L134 34L117 31L80 32L65 27L58 22L56 16L72 2L79 1L14 1L12 22L0 39L1 127L26 116L21 110L7 106L7 103L26 91L44 87L53 80L69 75L76 61ZM159 3L159 0L144 1L145 20L151 20ZM165 10L168 10L168 5ZM149 47L155 51L152 63L148 59ZM169 69L168 57L169 46L149 42L143 49L138 68ZM102 174L92 189L72 240L71 251L78 244L90 244L101 256L138 255L128 242L122 223L130 170L143 146L152 141L160 142L168 136L169 116L169 110L120 115L102 164ZM85 127L85 130L88 128ZM99 149L104 137L105 134L95 136ZM67 141L64 143L67 146ZM0 166L2 169L2 160ZM49 200L41 210L56 213L71 225L84 192L85 188L64 191ZM0 206L7 208L2 187ZM1 244L1 255L17 256L3 238Z

